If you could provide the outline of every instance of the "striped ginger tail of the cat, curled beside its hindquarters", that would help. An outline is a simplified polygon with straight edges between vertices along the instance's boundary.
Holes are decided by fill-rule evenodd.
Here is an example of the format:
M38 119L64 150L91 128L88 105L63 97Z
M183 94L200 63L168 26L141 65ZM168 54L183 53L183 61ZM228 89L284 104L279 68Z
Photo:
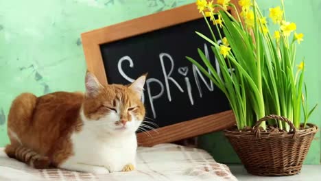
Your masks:
M16 147L13 145L7 145L5 147L5 153L10 158L16 158L16 160L25 162L27 165L30 165L35 169L46 169L50 165L50 160L47 156L42 156L23 145Z

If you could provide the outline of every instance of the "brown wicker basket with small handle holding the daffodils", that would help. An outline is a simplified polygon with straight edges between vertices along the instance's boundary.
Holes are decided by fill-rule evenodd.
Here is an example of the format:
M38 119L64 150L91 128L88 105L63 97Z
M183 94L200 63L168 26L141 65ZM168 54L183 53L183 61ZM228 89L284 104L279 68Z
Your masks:
M289 132L263 132L260 123L278 119L289 124ZM313 136L318 127L297 130L285 117L268 115L257 121L252 131L225 130L244 167L257 176L292 176L300 173Z

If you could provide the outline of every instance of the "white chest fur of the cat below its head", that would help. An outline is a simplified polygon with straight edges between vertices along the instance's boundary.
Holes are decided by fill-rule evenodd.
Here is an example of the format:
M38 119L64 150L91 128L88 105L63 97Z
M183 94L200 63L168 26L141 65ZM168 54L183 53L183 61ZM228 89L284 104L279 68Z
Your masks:
M64 165L99 166L110 172L121 171L128 164L135 165L137 142L134 133L112 135L84 125L81 132L71 135L71 141L74 155ZM67 169L87 171L78 167Z

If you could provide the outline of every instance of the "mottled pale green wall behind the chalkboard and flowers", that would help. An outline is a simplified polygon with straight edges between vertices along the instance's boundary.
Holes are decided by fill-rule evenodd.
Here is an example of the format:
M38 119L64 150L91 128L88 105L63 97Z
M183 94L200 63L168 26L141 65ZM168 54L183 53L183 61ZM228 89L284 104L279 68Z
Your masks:
M22 92L43 95L58 90L84 90L86 64L80 34L127 21L192 0L16 0L0 1L0 147L8 143L6 118L11 101ZM258 0L263 13L278 0ZM305 58L309 102L321 103L321 1L285 0L287 19L296 22L305 41L298 46L298 61ZM178 14L179 16L179 14ZM271 23L271 22L269 22ZM320 125L320 110L311 122ZM320 164L320 134L305 160ZM221 162L237 162L221 132L200 138L202 147Z

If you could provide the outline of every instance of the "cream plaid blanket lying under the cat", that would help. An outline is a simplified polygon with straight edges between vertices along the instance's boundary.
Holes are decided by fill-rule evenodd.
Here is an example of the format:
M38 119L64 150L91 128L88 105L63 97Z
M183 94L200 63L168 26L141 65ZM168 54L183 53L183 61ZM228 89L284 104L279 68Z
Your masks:
M139 147L136 171L94 175L63 169L32 169L0 148L0 180L237 180L204 150L175 144Z

